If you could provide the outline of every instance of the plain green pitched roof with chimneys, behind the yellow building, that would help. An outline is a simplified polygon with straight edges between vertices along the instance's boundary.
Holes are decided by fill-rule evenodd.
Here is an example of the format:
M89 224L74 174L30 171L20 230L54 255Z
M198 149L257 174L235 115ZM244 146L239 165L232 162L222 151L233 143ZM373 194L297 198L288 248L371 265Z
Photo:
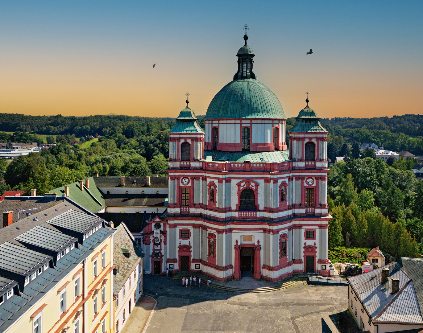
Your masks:
M84 191L80 190L79 182L69 184L69 199L88 209L92 213L98 212L100 209L106 207L102 193L96 187L93 177L89 177L89 193L84 187ZM65 193L65 187L61 186L49 191L50 193L57 193L58 195ZM90 195L91 194L91 195Z

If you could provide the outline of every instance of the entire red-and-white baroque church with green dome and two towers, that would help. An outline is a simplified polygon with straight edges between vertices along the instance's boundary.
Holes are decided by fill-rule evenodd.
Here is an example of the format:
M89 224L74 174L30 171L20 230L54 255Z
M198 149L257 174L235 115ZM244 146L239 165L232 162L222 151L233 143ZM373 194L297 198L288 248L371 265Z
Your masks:
M205 132L188 100L169 132L168 208L143 229L152 274L172 268L222 281L329 274L327 131L307 99L288 150L286 115L258 81L247 39L233 80L207 109Z

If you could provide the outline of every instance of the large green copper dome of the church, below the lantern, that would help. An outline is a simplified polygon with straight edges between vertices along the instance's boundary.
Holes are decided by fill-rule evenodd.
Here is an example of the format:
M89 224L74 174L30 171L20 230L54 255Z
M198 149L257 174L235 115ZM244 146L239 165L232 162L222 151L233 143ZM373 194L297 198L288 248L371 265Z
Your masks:
M286 119L272 91L255 79L229 82L211 100L204 119Z

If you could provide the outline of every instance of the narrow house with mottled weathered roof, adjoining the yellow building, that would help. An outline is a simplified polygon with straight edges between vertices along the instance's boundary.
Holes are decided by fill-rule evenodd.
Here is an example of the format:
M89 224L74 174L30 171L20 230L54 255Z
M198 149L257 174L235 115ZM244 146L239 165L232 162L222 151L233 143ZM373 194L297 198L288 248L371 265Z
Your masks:
M140 246L121 223L113 234L114 332L124 327L137 300L143 294L143 257Z

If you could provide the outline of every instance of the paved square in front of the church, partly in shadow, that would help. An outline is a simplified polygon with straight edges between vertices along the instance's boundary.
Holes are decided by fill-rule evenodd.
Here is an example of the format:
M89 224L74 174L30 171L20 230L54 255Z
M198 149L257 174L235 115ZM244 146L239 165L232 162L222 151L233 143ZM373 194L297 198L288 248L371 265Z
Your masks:
M145 276L144 293L157 300L146 333L338 333L330 315L348 308L346 287L299 283L276 292L224 292ZM350 332L359 332L351 327Z

